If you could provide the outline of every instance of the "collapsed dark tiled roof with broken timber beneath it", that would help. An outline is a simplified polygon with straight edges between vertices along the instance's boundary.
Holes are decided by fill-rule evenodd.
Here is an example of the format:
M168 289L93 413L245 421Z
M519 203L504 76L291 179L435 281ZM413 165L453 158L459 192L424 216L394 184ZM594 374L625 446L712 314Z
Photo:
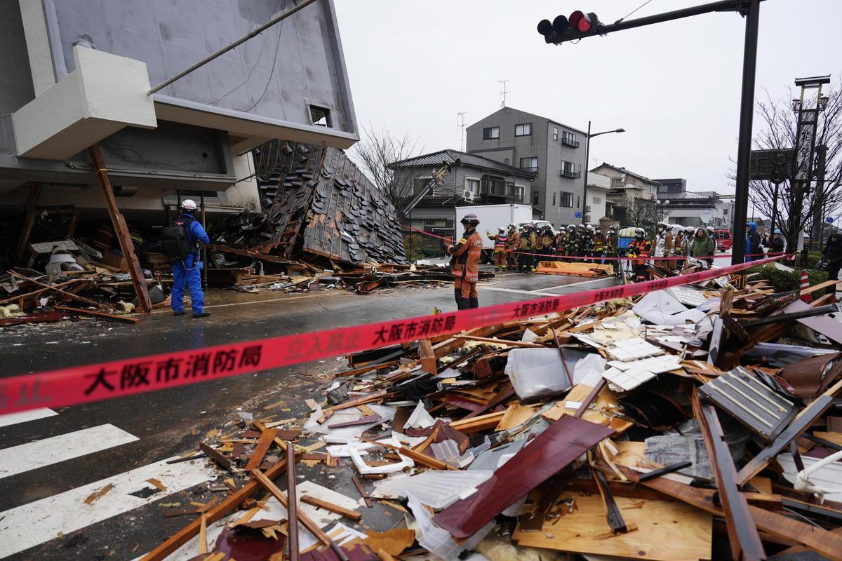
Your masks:
M258 150L263 211L223 220L211 246L216 267L230 269L235 286L297 290L321 283L368 292L452 280L409 264L394 204L344 151L278 140ZM253 278L267 269L286 276Z

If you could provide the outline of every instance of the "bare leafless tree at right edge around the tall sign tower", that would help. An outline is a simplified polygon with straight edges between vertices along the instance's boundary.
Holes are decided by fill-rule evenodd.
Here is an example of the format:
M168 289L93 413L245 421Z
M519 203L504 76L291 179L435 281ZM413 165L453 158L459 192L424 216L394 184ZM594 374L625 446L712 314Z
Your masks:
M796 166L778 167L782 183L778 186L775 205L775 184L770 181L752 181L749 197L759 214L772 216L776 206L775 227L786 236L788 247L796 247L799 232L813 231L815 219L833 213L842 205L842 88L839 79L830 84L823 95L827 104L818 114L816 129L816 156L806 180L796 181ZM756 150L784 150L795 146L798 115L791 108L791 98L773 99L766 93L765 101L757 103L757 114L763 130L754 136ZM805 107L815 107L816 99L805 99ZM818 224L817 224L818 225Z

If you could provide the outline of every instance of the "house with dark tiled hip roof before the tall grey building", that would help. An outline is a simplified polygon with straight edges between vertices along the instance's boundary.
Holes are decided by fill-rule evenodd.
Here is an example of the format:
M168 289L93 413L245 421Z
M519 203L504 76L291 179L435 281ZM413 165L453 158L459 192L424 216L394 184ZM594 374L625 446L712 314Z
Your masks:
M397 185L411 184L412 192L418 193L427 186L434 172L445 165L445 161L456 160L461 161L461 165L452 167L450 172L442 177L440 184L421 199L409 213L406 224L434 236L455 236L458 230L457 207L529 204L535 173L476 154L440 150L395 161L390 167L395 171L394 181ZM541 211L534 211L533 217L540 219ZM434 253L440 246L440 241L433 236L421 236L421 244L420 249Z

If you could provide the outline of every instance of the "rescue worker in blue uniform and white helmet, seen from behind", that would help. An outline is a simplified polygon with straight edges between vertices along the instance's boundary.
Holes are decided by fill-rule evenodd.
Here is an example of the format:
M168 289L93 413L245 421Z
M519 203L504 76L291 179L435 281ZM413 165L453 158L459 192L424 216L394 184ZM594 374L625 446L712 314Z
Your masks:
M184 315L184 287L186 286L190 291L193 317L207 317L210 312L205 311L205 294L202 292L203 264L200 261L199 247L201 244L209 245L210 238L199 220L195 219L194 200L184 199L181 210L181 216L177 222L181 222L184 226L184 233L187 234L190 247L195 247L195 251L191 251L184 259L173 261L173 302L171 304L173 315Z

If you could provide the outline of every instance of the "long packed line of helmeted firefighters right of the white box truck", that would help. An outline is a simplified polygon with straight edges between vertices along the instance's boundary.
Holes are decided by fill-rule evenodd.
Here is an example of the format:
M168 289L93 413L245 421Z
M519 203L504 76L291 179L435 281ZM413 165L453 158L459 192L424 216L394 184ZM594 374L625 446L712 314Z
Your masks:
M568 225L567 230L553 234L549 225L509 224L508 230L499 228L496 235L486 232L494 241L494 270L534 273L540 261L559 257L574 257L567 261L594 261L600 257L617 257L617 232L611 226L607 234L600 226Z

